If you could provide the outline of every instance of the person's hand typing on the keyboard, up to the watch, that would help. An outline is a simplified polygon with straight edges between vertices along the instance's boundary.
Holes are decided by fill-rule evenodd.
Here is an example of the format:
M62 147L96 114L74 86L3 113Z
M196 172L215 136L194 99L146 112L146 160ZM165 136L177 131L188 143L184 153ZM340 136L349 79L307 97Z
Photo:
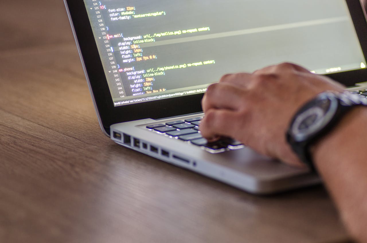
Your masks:
M286 141L295 112L324 91L342 92L340 84L283 63L254 73L225 75L208 87L202 100L203 137L232 137L259 153L304 166Z

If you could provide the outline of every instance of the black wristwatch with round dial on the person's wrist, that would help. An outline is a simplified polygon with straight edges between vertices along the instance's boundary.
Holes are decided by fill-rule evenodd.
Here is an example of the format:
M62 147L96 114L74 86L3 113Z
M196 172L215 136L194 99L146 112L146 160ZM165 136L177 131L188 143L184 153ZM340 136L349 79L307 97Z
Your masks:
M295 114L286 134L287 142L301 161L316 172L310 146L333 130L346 113L360 105L367 105L366 97L348 91L317 95Z

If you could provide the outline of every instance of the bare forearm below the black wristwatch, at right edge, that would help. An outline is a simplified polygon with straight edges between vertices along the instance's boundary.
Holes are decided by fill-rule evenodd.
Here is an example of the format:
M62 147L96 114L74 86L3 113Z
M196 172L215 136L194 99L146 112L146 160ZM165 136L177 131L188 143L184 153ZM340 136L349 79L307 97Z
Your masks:
M350 112L314 147L315 166L354 237L367 242L367 108Z

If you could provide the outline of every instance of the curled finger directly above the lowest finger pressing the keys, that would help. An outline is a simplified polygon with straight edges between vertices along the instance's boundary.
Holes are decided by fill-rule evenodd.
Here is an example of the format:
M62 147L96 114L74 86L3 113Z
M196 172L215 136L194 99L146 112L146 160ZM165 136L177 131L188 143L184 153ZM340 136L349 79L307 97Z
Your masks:
M245 90L232 84L211 84L201 103L203 111L206 112L211 108L237 110L245 93Z

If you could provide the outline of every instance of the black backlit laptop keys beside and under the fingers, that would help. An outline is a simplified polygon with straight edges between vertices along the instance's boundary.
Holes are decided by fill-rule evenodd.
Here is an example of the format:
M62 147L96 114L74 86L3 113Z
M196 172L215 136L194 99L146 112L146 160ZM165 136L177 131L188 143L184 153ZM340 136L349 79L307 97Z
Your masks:
M169 138L180 139L188 142L193 146L200 146L204 150L211 153L220 153L233 149L244 148L244 145L231 138L224 138L216 142L208 142L201 136L199 124L202 117L195 117L186 120L170 121L165 124L154 124L146 126L147 129L166 135Z

